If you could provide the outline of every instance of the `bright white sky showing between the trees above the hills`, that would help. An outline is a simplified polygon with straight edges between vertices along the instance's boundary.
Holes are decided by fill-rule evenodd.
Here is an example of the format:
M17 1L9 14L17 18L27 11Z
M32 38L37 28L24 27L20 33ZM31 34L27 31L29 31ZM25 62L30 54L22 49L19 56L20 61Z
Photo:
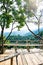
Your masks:
M38 12L39 12L40 9L43 9L43 1L39 4ZM34 23L27 23L27 24L28 24L29 28L30 28L32 31L38 29L38 25L35 25ZM17 23L14 25L14 27L15 27L16 25L17 25ZM42 28L42 27L43 27L43 23L40 24L40 28ZM15 28L13 31L17 31L17 30L18 30L18 29ZM1 28L0 28L0 31L1 31ZM11 25L10 25L10 28L4 29L4 32L10 32L10 31L11 31ZM22 27L22 28L20 29L20 31L27 32L28 29L27 29L26 25L25 25L24 27Z

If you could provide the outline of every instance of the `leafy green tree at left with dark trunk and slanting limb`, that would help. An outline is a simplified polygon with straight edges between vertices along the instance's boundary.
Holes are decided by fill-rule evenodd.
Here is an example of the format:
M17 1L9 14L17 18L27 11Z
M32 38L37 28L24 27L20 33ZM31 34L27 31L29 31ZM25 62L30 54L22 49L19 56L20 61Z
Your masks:
M1 27L1 35L0 35L0 42L1 42L1 53L3 53L4 43L6 39L9 37L9 35L12 33L12 30L14 29L13 26L15 22L19 23L19 28L24 26L25 22L25 9L21 5L21 0L0 0L0 27ZM16 3L16 6L14 5ZM12 29L9 33L8 37L4 40L3 39L3 33L4 28L9 28L9 25L12 23Z

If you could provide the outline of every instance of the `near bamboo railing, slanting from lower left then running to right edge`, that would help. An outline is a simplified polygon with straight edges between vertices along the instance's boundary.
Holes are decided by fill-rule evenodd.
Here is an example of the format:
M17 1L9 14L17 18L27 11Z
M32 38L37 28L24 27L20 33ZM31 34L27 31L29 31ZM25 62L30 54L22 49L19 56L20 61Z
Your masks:
M17 52L17 53L14 53L14 54L10 55L10 56L5 57L4 59L0 59L0 62L4 62L4 61L7 61L7 60L11 59L10 65L13 65L13 58L16 57L16 65L18 65L18 59L17 59L17 57L18 57L20 54L24 55L24 54L35 54L35 53L43 53L43 51L21 52L21 53L18 53L18 52ZM40 65L40 64L39 64L39 65ZM43 65L43 63L42 63L41 65Z

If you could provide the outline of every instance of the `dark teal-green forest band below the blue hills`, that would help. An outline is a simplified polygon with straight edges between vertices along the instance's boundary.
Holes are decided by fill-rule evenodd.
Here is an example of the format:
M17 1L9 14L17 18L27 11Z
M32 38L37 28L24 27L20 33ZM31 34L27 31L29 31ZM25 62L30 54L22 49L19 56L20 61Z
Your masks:
M39 33L39 36L43 37L43 31L41 31ZM37 42L36 40L39 40L39 39L31 34L31 35L27 35L27 36L20 36L20 35L14 36L14 35L11 35L11 36L8 37L7 40L9 40L10 43L15 43L16 41L19 41L19 43L26 43L25 40L35 40L35 42ZM20 40L22 40L22 42L20 42Z

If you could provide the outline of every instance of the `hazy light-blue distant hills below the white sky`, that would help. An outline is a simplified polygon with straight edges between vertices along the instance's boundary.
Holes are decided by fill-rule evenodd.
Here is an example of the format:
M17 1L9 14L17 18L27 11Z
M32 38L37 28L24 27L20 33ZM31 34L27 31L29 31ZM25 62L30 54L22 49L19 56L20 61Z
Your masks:
M40 31L42 31L43 28L40 29ZM33 31L35 34L38 34L38 30L34 30ZM8 36L9 32L5 32L4 33L4 36ZM28 35L31 35L32 33L29 32L29 31L14 31L12 32L11 35L14 35L14 36L17 36L17 35L20 35L20 36L28 36Z

